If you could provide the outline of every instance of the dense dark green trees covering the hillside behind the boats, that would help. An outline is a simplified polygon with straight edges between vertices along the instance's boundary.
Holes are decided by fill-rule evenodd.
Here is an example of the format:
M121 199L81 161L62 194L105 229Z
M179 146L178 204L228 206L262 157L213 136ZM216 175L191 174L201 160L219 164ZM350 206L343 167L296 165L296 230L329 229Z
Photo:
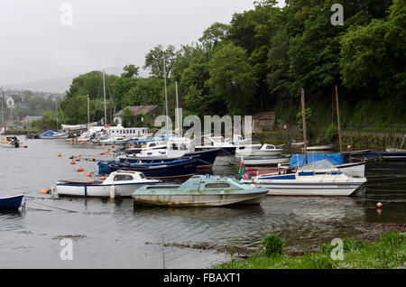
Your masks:
M164 55L171 116L176 81L184 116L274 110L291 123L304 88L313 123L327 128L335 117L337 85L342 123L406 124L406 0L343 0L343 25L331 23L335 2L287 0L280 8L273 0L255 1L230 23L210 25L197 43L178 51L157 45L145 55L149 78L139 77L134 65L120 77L106 76L107 122L125 106L164 106ZM100 72L73 80L61 105L67 123L86 122L80 108L86 95L92 120L101 119Z

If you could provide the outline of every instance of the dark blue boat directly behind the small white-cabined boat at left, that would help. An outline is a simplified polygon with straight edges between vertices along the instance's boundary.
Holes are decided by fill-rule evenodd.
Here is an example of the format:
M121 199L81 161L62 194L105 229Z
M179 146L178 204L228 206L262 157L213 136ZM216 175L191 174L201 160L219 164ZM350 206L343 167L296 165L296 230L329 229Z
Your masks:
M198 162L192 159L141 164L110 161L98 162L98 171L99 174L112 171L140 171L148 179L184 179L196 173L197 164Z

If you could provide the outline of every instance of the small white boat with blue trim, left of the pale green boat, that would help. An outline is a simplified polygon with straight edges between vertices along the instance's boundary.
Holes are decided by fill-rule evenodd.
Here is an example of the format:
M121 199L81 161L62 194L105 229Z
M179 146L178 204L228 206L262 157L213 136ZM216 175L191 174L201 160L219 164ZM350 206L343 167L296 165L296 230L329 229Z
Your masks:
M52 193L60 196L131 197L134 190L139 189L143 184L156 184L160 182L147 180L143 172L113 171L105 181L58 181L56 186L52 188Z

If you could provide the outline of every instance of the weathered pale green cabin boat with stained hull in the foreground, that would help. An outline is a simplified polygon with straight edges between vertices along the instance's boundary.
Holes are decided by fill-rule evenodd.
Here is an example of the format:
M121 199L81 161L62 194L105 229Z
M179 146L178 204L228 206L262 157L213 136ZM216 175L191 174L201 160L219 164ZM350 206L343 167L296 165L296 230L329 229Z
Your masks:
M134 204L172 207L223 207L260 204L268 190L234 179L195 175L181 185L143 186L133 194Z

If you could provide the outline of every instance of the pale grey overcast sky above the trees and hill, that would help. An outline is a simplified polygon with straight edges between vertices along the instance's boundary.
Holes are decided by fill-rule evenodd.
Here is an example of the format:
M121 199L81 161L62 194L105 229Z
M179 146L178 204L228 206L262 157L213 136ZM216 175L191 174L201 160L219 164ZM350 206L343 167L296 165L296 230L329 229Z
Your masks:
M154 46L197 42L211 23L229 23L234 13L253 8L253 2L1 0L0 85L129 63L142 67ZM64 4L72 7L71 18Z

